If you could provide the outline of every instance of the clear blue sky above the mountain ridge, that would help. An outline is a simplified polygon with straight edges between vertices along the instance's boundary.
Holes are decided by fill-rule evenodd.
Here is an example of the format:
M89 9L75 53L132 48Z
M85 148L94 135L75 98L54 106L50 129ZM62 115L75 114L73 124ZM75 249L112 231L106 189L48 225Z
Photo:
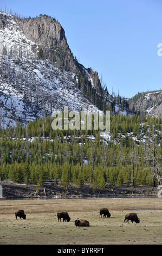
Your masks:
M98 72L109 93L162 89L161 0L1 0L0 7L55 17L74 57Z

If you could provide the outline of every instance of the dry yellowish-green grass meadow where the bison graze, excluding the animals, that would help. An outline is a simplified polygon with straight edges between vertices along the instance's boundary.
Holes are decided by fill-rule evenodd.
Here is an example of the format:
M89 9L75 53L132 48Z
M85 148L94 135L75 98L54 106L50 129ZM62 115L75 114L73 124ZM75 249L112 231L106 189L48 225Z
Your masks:
M100 218L107 207L110 218ZM23 209L26 220L15 220ZM133 209L140 223L124 223ZM161 209L161 210L155 210ZM58 222L57 211L69 212L70 222ZM90 227L75 227L85 218ZM161 198L33 199L0 201L0 244L3 245L161 245Z

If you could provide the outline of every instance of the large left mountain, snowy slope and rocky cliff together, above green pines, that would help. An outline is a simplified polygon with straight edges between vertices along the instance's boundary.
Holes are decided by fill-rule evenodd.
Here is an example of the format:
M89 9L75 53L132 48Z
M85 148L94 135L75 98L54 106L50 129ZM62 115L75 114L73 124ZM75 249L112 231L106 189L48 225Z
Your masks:
M0 13L0 126L27 124L64 106L99 111L83 81L100 87L97 72L73 57L59 22Z

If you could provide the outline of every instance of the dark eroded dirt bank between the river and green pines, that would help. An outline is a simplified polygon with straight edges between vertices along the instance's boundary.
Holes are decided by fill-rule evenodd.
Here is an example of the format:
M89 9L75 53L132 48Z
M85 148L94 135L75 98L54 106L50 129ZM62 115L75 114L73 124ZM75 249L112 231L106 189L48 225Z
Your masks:
M151 186L123 186L105 188L105 190L94 191L92 185L84 184L82 187L71 185L68 190L55 182L44 182L37 191L36 185L14 184L12 182L0 182L3 198L34 198L34 197L93 197L93 196L157 196L159 190Z

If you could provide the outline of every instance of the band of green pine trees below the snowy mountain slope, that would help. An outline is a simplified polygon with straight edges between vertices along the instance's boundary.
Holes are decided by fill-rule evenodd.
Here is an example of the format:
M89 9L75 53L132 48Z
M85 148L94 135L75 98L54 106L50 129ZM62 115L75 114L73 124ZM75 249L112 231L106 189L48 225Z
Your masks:
M42 186L84 182L102 190L124 183L157 186L162 173L161 118L111 115L111 138L99 130L53 130L46 117L0 130L0 178Z

